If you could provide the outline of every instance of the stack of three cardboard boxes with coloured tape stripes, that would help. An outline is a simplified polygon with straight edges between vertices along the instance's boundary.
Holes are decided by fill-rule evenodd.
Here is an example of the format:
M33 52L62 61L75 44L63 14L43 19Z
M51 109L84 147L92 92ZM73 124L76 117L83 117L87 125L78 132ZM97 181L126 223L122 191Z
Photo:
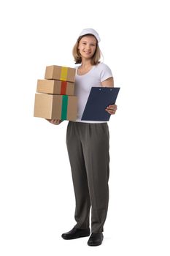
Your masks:
M35 117L76 120L75 71L76 69L72 67L46 67L45 80L37 81L34 105Z

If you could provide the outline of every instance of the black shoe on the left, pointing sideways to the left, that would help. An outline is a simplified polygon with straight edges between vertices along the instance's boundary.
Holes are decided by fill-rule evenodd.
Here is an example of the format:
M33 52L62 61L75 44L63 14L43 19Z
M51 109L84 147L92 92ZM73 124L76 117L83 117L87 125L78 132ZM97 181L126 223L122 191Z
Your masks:
M90 236L90 228L86 228L82 230L80 228L73 227L72 230L70 230L67 233L63 233L61 236L63 239L66 239L66 240Z

